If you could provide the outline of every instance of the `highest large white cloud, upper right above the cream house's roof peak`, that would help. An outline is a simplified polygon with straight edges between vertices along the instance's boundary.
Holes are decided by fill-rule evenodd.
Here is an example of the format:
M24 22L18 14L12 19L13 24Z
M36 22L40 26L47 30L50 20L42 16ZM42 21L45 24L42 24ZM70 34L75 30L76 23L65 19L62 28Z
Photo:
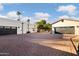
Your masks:
M66 6L59 6L57 11L61 12L68 12L69 14L75 12L77 9L74 5L66 5Z

